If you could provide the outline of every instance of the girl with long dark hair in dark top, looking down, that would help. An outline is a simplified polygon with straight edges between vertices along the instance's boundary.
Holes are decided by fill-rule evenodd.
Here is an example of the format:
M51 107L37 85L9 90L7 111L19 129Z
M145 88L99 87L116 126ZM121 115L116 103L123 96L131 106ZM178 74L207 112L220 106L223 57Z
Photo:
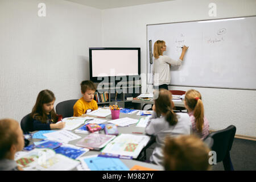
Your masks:
M42 90L36 98L36 104L32 109L33 130L54 130L63 129L65 122L54 110L55 96L51 90Z

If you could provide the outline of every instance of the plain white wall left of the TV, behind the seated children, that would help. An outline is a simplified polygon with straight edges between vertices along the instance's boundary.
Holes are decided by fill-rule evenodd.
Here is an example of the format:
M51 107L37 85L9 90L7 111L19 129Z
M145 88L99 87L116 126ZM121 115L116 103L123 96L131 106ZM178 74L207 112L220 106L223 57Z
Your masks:
M101 17L101 10L62 0L1 0L0 118L20 121L43 89L55 93L55 106L80 98L89 47L101 46Z

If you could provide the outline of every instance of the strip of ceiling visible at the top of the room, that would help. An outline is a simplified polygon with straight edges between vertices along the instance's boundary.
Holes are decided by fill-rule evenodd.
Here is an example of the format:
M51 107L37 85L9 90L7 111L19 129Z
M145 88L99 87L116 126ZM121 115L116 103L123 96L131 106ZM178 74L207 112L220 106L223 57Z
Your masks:
M85 6L95 7L97 9L112 9L117 7L136 6L150 3L174 0L64 0L79 3Z

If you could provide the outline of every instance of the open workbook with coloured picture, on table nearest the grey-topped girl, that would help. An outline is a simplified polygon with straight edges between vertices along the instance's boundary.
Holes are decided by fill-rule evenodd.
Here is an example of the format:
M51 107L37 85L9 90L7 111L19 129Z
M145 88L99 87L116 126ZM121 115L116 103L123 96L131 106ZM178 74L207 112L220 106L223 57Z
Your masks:
M101 151L109 154L132 156L136 159L150 140L146 135L121 134Z

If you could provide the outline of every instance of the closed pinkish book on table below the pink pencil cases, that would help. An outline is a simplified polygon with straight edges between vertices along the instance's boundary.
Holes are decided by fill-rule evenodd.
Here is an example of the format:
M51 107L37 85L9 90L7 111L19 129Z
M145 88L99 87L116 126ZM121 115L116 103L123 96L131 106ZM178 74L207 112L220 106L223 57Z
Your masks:
M100 150L114 138L115 135L91 133L77 142L76 146L85 147L92 150Z

